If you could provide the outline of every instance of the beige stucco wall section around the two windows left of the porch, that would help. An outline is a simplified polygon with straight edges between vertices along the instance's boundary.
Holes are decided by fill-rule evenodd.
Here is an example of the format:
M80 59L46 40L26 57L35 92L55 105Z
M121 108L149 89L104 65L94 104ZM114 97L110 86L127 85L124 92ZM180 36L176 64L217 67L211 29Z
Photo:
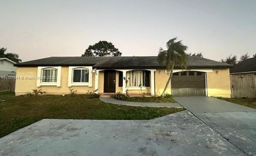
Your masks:
M68 87L68 67L61 68L61 86L40 86L36 87L36 79L29 80L26 77L36 77L37 67L17 67L16 76L20 79L16 80L15 94L26 94L32 92L33 89L42 89L47 94L68 94L69 89L77 90L77 93L86 93L88 91L94 91L94 74L92 75L92 87L89 86L72 86ZM22 80L22 77L24 79Z

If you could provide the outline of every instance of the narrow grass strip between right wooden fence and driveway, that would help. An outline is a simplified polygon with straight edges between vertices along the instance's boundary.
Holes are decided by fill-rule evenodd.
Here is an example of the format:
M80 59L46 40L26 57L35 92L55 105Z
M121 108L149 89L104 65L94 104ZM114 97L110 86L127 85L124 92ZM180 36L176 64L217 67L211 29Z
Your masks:
M256 109L256 98L222 98L218 97L218 99L226 100L229 102L237 103L238 105L243 105L246 107L251 107Z

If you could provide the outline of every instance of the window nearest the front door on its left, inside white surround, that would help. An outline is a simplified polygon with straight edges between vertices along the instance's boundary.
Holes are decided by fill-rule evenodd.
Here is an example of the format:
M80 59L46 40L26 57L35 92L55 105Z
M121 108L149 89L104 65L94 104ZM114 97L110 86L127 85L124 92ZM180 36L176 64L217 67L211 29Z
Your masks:
M87 70L86 68L73 69L72 82L89 82L89 70Z

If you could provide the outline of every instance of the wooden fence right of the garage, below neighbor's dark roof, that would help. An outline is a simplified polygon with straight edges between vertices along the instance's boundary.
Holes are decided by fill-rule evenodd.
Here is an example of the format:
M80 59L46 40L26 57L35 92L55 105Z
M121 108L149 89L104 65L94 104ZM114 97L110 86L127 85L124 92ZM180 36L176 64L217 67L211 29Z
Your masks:
M232 98L256 98L256 75L234 74L230 75Z

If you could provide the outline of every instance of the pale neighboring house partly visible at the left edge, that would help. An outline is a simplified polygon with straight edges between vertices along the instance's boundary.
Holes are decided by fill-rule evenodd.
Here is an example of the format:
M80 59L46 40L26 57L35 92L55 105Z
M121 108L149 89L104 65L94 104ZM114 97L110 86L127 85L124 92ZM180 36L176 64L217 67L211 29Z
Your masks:
M0 77L1 76L15 76L16 68L15 62L8 58L0 58Z

